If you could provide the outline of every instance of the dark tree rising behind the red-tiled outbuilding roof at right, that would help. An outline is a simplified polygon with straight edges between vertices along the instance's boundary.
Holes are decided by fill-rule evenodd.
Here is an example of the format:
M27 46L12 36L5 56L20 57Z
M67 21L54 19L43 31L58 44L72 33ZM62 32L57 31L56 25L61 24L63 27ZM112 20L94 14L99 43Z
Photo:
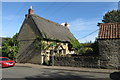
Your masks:
M120 22L120 10L112 10L105 13L102 22L104 23L115 23Z

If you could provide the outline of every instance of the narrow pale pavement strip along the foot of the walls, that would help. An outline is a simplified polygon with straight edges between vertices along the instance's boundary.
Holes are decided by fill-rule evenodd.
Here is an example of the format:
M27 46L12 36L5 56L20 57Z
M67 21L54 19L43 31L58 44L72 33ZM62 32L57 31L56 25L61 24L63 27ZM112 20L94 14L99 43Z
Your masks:
M106 73L110 74L113 72L120 72L115 69L97 69L97 68L83 68L83 67L68 67L68 66L45 66L31 63L16 63L16 66L30 66L34 68L46 68L46 69L58 69L58 70L70 70L70 71L82 71L82 72L93 72L93 73Z

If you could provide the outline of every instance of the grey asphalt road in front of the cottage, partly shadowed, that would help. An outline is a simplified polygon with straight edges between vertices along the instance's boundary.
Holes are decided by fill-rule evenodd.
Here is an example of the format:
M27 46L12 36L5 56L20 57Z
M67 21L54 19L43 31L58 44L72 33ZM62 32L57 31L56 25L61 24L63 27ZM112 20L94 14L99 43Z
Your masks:
M49 67L49 66L48 66ZM56 69L45 67L15 66L2 69L3 79L19 78L24 80L35 80L48 78L54 80L111 80L109 73L87 72L80 70ZM45 79L45 80L46 80ZM17 79L18 80L18 79Z

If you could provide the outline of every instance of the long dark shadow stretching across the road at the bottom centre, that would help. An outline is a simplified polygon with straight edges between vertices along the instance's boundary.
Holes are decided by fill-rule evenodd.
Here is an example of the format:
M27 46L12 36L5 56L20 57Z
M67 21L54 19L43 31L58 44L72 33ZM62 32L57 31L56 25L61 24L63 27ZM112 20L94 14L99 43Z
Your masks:
M41 75L36 75L36 76L30 76L30 77L26 77L26 80L111 80L111 79L104 79L104 78L95 78L93 76L89 76L89 75L85 75L85 76L78 76L75 74L70 74L70 73L52 73L52 74L47 74L44 73L42 74L44 76Z

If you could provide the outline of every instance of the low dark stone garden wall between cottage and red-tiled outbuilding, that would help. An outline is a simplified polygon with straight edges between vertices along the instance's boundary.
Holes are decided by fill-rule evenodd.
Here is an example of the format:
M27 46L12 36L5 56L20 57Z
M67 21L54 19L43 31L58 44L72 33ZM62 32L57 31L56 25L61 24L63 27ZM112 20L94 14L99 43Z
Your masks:
M98 56L65 56L65 57L54 57L54 62L51 57L51 65L54 63L55 66L71 66L71 67L91 67L99 68L99 57Z

